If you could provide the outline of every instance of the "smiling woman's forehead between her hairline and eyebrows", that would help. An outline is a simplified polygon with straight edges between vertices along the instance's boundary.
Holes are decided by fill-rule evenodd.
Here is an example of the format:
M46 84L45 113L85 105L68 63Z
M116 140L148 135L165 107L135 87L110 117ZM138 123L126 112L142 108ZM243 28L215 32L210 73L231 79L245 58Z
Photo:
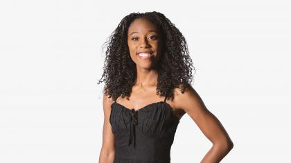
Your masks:
M149 31L157 31L157 26L148 19L138 18L130 24L127 33L130 35L132 32L143 33Z

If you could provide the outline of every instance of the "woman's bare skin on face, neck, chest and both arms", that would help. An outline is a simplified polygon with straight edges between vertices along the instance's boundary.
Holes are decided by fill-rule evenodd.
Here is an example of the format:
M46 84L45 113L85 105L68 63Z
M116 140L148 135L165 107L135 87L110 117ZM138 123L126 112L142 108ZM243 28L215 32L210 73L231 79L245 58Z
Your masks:
M135 19L127 31L127 44L130 49L130 57L136 63L136 83L132 87L129 101L120 96L116 102L121 103L126 108L139 110L150 103L163 101L164 97L156 94L157 71L155 70L155 65L162 55L162 40L159 37L157 27L148 19ZM152 57L143 60L137 55L140 51L150 51L152 52ZM220 121L206 108L195 89L189 85L184 94L182 94L180 88L175 88L173 100L167 100L166 102L173 108L175 115L179 119L184 114L188 114L205 137L213 144L201 162L220 162L233 148L233 142ZM108 96L103 96L103 145L100 151L99 163L108 163L114 160L114 135L109 123L111 104L113 102Z

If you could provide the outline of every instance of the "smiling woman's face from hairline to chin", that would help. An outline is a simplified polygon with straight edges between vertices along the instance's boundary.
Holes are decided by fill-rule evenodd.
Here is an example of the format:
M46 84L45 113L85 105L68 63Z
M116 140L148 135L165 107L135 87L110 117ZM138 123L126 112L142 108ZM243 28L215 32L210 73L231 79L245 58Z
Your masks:
M161 55L161 39L157 26L148 19L135 19L127 31L130 57L136 67L152 69Z

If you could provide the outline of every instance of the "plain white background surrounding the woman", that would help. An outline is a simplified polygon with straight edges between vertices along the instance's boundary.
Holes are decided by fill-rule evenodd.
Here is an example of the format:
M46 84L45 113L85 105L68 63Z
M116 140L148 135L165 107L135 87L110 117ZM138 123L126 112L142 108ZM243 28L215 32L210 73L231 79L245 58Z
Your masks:
M98 162L103 43L125 15L156 10L188 42L195 90L234 147L222 162L291 162L288 1L1 1L0 162ZM211 148L185 114L171 149Z

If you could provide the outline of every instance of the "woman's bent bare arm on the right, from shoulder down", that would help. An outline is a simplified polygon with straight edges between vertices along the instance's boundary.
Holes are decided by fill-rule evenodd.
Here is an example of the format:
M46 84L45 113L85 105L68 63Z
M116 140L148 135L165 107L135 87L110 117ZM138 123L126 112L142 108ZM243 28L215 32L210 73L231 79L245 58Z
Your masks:
M217 163L233 148L233 142L220 121L207 110L195 89L188 85L184 94L175 91L175 105L184 110L195 121L203 134L213 144L201 163Z

